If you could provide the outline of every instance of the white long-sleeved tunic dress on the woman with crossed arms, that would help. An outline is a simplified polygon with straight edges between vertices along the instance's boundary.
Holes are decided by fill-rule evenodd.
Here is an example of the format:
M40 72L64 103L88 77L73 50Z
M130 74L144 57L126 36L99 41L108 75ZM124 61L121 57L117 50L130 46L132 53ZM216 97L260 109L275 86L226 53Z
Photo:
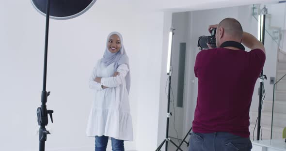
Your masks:
M116 70L120 75L116 77L112 77L113 69L114 63L104 66L100 60L94 67L89 87L95 90L95 100L90 111L86 134L132 141L132 119L125 80L129 72L128 66L121 64ZM94 81L95 77L102 77L101 84ZM101 85L109 88L103 90Z

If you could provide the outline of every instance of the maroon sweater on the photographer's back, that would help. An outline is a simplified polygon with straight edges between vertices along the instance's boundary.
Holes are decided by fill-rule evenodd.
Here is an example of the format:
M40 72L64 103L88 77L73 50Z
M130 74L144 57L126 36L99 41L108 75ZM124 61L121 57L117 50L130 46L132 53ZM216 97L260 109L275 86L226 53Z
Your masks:
M193 132L249 137L249 109L264 62L265 54L260 49L246 52L214 48L199 52L194 67L198 99Z

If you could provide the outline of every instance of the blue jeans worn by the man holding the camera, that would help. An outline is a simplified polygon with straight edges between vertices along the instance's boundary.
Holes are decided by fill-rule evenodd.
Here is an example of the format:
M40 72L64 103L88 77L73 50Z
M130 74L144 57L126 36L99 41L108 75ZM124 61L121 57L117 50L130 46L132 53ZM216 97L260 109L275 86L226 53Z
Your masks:
M189 151L251 151L249 138L226 132L191 133Z

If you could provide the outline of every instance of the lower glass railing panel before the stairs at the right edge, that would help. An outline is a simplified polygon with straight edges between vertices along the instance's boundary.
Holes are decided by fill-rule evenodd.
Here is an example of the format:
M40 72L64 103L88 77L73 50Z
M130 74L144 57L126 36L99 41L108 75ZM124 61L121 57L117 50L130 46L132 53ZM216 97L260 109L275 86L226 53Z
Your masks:
M286 127L286 71L277 72L277 81L273 85L271 138L282 139Z

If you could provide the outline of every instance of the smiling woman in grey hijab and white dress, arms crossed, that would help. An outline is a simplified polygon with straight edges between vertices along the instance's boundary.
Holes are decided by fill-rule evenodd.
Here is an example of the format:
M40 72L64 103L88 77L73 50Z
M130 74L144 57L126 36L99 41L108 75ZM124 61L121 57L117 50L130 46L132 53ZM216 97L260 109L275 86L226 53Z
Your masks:
M95 151L106 151L109 137L112 151L124 151L124 141L133 140L128 94L129 61L120 33L111 32L103 58L97 61L89 79L95 90L87 136L95 136Z

